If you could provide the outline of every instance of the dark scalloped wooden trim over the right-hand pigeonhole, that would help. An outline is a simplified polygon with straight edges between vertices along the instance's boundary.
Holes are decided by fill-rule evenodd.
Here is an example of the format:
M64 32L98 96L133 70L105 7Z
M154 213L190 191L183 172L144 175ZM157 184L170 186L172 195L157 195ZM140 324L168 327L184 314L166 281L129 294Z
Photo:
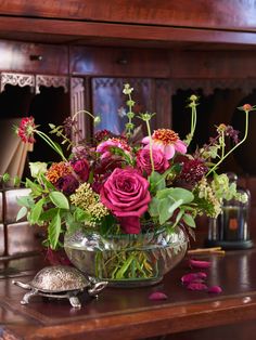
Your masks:
M220 90L238 90L240 89L244 94L249 94L256 89L256 78L245 79L195 79L195 78L179 78L172 79L171 88L174 93L178 90L197 90L202 89L205 95L210 95L216 89Z

